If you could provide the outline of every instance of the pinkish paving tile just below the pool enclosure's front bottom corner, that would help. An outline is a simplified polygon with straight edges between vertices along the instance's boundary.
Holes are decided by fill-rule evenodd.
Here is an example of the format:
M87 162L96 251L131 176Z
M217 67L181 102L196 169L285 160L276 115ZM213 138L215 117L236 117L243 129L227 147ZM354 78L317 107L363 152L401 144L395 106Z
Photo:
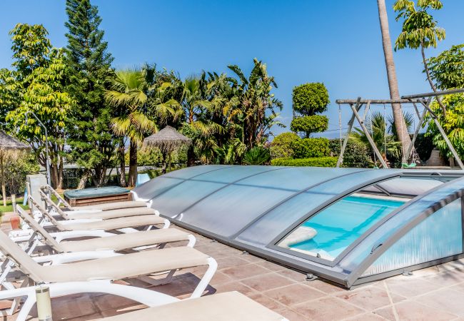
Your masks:
M390 305L387 291L378 287L361 287L356 290L341 292L336 297L366 310L374 310Z

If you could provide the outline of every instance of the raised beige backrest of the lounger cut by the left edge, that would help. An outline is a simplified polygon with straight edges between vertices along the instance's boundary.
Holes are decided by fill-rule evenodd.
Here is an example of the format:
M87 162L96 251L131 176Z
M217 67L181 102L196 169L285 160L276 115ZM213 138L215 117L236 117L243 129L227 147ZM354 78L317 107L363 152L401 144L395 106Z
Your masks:
M19 245L10 240L3 230L0 230L0 250L1 253L13 260L14 263L18 265L19 269L24 274L31 277L32 280L36 282L41 282L41 280L43 280L43 277L41 277L41 265L34 262Z

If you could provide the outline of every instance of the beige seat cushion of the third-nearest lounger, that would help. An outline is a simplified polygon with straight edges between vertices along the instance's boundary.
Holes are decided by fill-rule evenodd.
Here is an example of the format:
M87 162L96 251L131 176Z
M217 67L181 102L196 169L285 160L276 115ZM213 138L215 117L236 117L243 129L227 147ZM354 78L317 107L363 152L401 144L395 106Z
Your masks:
M123 250L137 248L143 245L153 245L167 242L188 240L188 233L176 228L159 230L144 230L135 233L118 234L105 238L91 238L59 243L64 252L94 251L94 250Z

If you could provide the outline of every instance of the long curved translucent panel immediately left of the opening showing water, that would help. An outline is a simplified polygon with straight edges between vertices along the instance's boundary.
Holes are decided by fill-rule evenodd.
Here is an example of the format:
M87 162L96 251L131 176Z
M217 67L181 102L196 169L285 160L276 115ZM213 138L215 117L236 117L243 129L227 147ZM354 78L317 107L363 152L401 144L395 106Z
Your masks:
M326 170L328 168L325 168ZM331 175L329 175L331 173ZM318 177L317 180L308 182L325 183L309 188L306 192L295 195L293 198L278 205L273 210L263 215L256 220L246 230L238 235L236 240L245 241L256 246L266 246L274 238L283 233L295 223L302 223L305 216L311 211L323 205L324 202L342 196L343 192L350 188L355 188L358 185L368 182L369 180L380 180L385 175L395 173L394 170L364 170L358 171L353 168L338 168L338 171L328 171L323 177ZM291 232L290 230L288 231Z

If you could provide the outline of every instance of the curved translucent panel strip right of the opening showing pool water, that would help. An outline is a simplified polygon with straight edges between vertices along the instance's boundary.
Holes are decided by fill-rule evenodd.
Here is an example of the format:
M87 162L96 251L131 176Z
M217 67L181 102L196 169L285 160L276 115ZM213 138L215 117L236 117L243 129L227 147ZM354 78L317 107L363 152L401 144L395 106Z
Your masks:
M370 235L362 240L353 250L346 255L339 263L339 268L347 272L353 271L363 260L372 255L373 249L385 243L390 235L393 235L398 228L408 224L421 215L425 210L438 207L443 200L454 193L464 189L464 178L457 178L443 184L437 190L431 190L430 193L423 195L418 200L408 203L408 206L395 213L391 218L382 225L375 228Z

